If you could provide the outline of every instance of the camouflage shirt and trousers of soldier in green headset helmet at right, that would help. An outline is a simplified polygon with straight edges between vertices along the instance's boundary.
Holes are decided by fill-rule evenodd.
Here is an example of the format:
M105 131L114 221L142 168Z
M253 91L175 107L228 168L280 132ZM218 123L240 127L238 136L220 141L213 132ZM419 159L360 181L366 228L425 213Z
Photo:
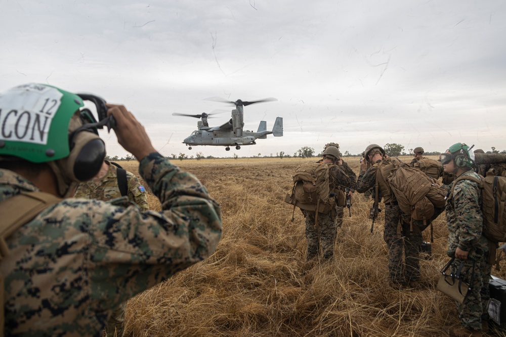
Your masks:
M478 177L473 170L462 175ZM469 252L467 260L455 259L451 272L456 273L460 263L464 263L460 273L463 281L470 284L471 291L463 304L456 302L456 305L461 326L472 330L481 330L481 321L489 318L487 304L490 299L488 279L491 265L488 263L488 242L482 235L483 214L480 205L481 190L476 182L467 179L457 181L453 195L450 194L446 201L447 253L453 256L457 248Z

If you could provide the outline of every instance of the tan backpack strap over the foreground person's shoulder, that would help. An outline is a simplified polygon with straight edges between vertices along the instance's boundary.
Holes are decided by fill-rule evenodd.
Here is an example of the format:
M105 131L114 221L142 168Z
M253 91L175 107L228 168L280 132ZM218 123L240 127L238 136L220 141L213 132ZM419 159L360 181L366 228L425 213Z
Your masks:
M27 192L0 202L0 261L9 256L6 239L18 228L35 218L40 212L51 205L60 202L57 198L45 192ZM4 275L0 274L0 336L4 336L4 303L5 283Z

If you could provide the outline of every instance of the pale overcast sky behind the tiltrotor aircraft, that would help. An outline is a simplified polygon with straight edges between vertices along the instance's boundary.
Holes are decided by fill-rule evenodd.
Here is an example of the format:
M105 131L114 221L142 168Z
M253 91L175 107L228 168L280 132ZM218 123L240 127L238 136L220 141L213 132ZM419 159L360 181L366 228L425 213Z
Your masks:
M352 154L369 143L503 150L505 4L0 0L0 91L48 83L124 104L165 156L319 153L330 141ZM244 129L279 116L284 136L188 150L198 120L172 113L233 109L209 97L278 99L245 107Z

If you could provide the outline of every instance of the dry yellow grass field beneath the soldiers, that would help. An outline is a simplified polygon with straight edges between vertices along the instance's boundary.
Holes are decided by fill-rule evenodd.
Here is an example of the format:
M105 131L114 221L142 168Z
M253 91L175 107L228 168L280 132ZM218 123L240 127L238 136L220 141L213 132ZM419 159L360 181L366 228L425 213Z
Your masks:
M383 212L370 233L372 202L361 194L351 217L345 209L334 260L305 262L304 218L296 209L290 222L283 199L294 168L311 160L176 161L221 204L223 237L212 257L129 301L125 336L435 336L457 324L454 303L436 291L448 260L444 213L419 288L389 286ZM345 160L358 175L358 157ZM138 173L137 162L120 164ZM149 203L159 210L152 195ZM492 273L504 278L501 269Z

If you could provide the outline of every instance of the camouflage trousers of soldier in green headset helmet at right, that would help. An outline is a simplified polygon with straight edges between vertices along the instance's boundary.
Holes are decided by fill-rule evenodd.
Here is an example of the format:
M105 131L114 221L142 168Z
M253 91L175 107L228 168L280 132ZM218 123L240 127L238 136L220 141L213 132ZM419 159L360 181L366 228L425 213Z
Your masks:
M451 272L453 274L457 272L462 261L464 262L464 266L460 271L460 275L463 281L470 284L473 274L474 281L473 284L470 284L471 290L468 292L464 303L455 302L458 319L460 320L460 325L467 329L481 330L481 321L489 319L487 310L488 301L490 300L488 280L490 279L492 265L488 263L488 254L474 261L474 270L472 260L455 259L451 265Z

